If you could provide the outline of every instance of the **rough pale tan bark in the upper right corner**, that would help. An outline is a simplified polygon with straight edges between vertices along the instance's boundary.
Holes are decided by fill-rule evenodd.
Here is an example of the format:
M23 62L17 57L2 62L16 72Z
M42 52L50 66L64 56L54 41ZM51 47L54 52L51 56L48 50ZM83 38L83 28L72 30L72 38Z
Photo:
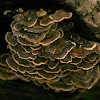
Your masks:
M100 0L65 0L77 12L100 42Z

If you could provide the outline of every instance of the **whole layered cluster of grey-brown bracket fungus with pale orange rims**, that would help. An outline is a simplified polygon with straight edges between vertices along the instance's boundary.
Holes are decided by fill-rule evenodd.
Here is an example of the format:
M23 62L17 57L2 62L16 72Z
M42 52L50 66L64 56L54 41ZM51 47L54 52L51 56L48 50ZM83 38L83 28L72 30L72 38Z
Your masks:
M43 9L16 14L12 32L5 36L11 55L0 56L1 72L7 75L0 78L33 81L55 91L90 89L99 78L100 44L80 36L65 39L58 24L71 17L62 9L54 14Z

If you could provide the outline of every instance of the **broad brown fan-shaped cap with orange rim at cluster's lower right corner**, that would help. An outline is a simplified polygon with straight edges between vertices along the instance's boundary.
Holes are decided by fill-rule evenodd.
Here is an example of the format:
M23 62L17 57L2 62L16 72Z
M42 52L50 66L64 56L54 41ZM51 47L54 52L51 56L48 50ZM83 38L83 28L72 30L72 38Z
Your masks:
M71 82L79 87L90 89L99 78L99 66L95 66L93 70L76 72L72 74Z

